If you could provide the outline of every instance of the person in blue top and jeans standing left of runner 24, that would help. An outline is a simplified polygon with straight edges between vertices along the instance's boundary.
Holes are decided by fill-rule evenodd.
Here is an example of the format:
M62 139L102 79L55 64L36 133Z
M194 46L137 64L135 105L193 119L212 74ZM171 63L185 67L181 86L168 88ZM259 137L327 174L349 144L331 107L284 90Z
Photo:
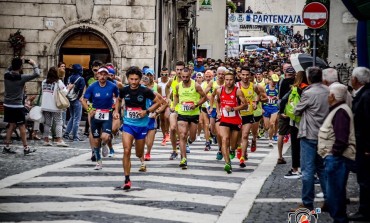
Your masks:
M82 116L82 105L80 98L85 87L85 80L82 76L82 66L80 64L73 64L72 66L72 75L69 77L68 84L72 84L73 88L70 91L77 95L77 97L70 100L69 113L70 118L68 121L66 132L64 133L65 139L71 139L73 141L83 141L78 136L78 127L80 125L81 116ZM69 134L72 133L72 138L69 137Z

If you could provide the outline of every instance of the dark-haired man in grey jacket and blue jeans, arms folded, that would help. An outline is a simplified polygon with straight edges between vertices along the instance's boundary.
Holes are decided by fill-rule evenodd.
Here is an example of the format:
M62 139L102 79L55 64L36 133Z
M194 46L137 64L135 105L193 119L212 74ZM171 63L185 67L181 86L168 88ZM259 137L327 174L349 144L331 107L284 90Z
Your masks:
M298 132L298 138L301 140L302 205L313 210L315 173L319 176L321 189L324 198L326 198L326 177L323 159L317 154L317 141L319 128L329 112L327 102L329 90L321 83L322 71L320 68L309 67L306 73L311 85L303 91L294 113L302 116ZM322 208L325 210L325 203Z

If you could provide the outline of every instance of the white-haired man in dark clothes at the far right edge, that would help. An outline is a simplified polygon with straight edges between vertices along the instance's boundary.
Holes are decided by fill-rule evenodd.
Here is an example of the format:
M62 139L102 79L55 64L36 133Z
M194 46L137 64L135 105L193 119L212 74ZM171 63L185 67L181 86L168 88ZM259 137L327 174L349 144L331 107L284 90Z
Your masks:
M360 185L358 212L350 215L352 221L370 221L370 70L356 67L352 72L355 90L352 105L356 136L357 182Z

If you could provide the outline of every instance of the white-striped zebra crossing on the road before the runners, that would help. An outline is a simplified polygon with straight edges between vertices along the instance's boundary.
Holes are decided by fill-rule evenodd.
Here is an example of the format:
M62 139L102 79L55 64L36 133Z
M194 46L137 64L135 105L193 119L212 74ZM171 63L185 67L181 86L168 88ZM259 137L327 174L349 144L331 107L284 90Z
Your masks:
M216 145L211 151L204 151L204 142L194 142L188 154L188 169L182 170L178 166L180 159L169 160L170 143L167 146L160 143L161 138L157 137L151 161L146 162L147 172L138 171L141 163L133 151L129 191L116 188L124 180L120 143L114 145L114 158L103 158L101 171L93 170L95 164L86 153L37 176L27 178L23 174L23 180L0 187L0 219L2 222L223 222L220 219L225 219L222 215L238 190L252 182L248 177L266 156L276 153L267 140L259 139L257 151L249 153L247 167L240 168L235 158L233 173L227 174L223 170L224 161L216 160Z

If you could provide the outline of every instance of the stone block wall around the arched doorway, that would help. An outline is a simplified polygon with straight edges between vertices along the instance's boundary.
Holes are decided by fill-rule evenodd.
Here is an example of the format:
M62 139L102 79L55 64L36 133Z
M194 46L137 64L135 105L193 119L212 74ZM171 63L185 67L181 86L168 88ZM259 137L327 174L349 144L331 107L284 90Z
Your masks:
M27 42L24 56L36 60L43 74L57 64L63 40L79 31L103 38L119 69L154 65L156 0L0 0L0 8L7 9L0 10L1 73L13 56L9 35L18 29ZM0 96L3 91L0 75Z

